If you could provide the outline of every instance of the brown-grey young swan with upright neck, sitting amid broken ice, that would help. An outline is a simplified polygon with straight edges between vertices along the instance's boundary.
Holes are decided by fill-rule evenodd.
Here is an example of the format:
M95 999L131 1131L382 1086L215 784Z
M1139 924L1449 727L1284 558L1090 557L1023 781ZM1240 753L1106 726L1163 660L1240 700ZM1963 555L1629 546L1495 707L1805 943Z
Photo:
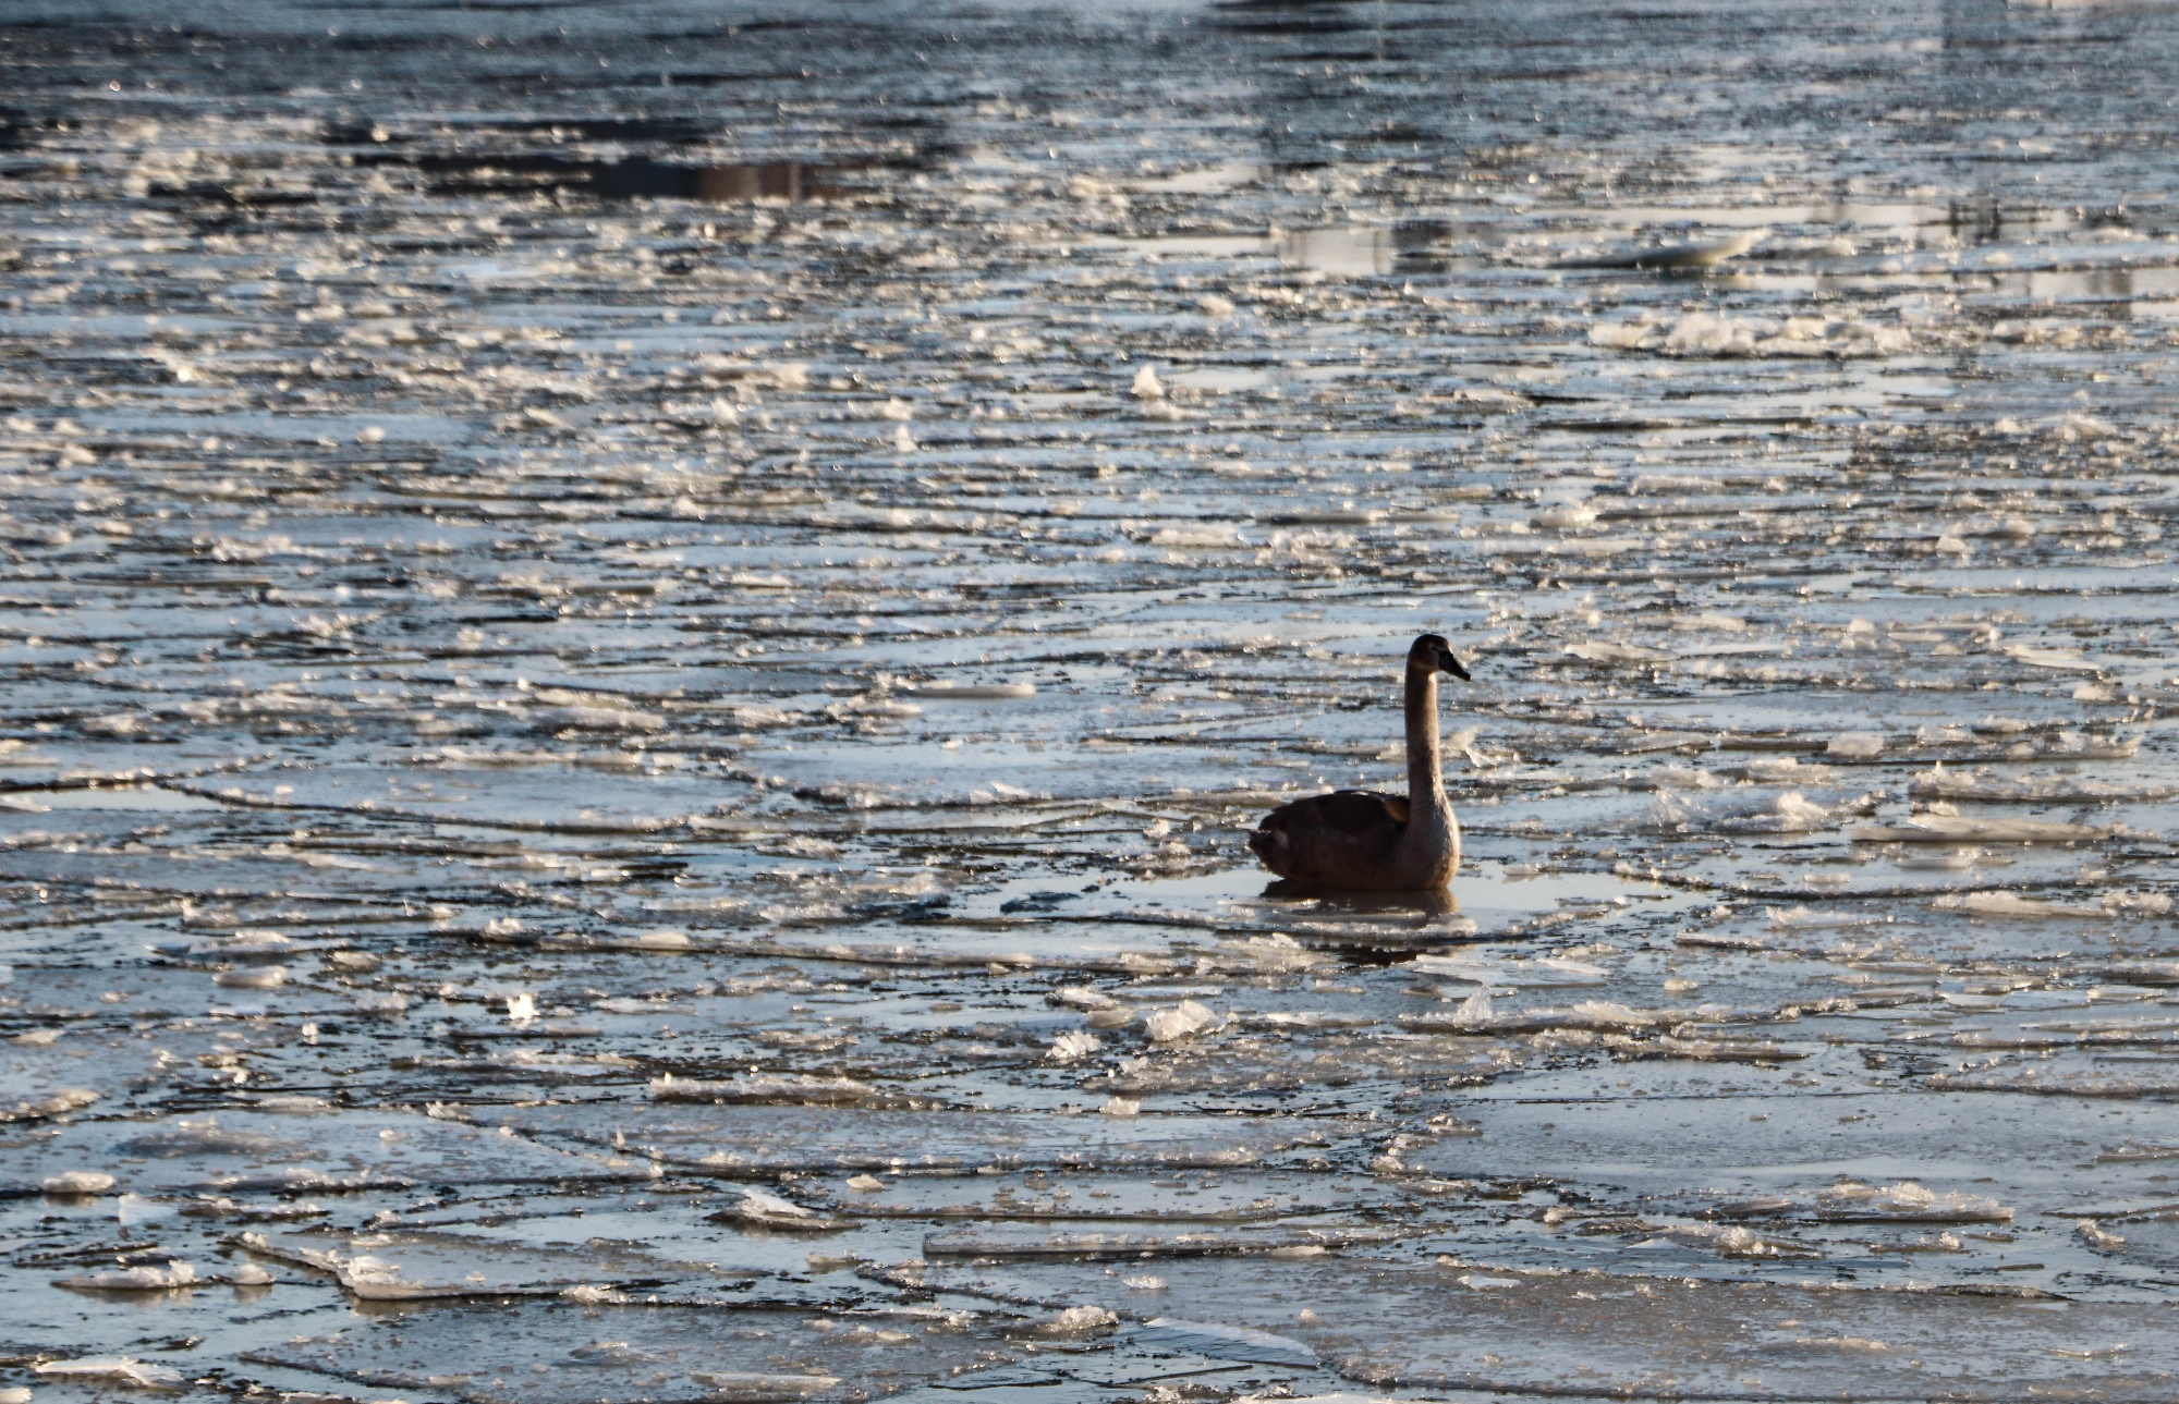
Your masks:
M1249 835L1264 866L1305 887L1436 892L1460 866L1460 820L1438 765L1438 674L1466 680L1453 645L1408 647L1408 794L1336 789L1279 804Z

